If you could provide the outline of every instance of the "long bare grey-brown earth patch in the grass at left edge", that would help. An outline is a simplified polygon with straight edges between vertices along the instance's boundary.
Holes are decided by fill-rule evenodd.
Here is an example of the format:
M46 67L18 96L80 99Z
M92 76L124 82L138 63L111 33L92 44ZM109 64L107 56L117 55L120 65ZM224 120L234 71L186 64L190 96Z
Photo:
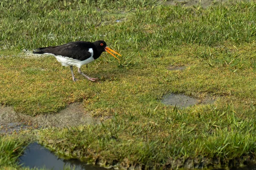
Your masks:
M17 133L47 127L97 124L108 117L94 118L84 112L82 103L73 103L59 113L29 116L16 113L10 106L0 106L0 133Z

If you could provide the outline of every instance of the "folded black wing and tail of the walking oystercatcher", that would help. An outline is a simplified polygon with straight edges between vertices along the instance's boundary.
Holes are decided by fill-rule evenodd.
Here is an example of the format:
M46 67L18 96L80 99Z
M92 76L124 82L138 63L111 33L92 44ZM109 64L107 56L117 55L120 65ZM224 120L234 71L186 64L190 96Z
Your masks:
M78 59L82 61L90 58L91 53L89 52L89 48L93 48L93 43L77 41L77 42L70 42L64 45L59 45L59 46L38 48L37 49L38 52L34 52L34 53L35 54L49 53L54 55L60 55L63 57L70 57L70 58Z

